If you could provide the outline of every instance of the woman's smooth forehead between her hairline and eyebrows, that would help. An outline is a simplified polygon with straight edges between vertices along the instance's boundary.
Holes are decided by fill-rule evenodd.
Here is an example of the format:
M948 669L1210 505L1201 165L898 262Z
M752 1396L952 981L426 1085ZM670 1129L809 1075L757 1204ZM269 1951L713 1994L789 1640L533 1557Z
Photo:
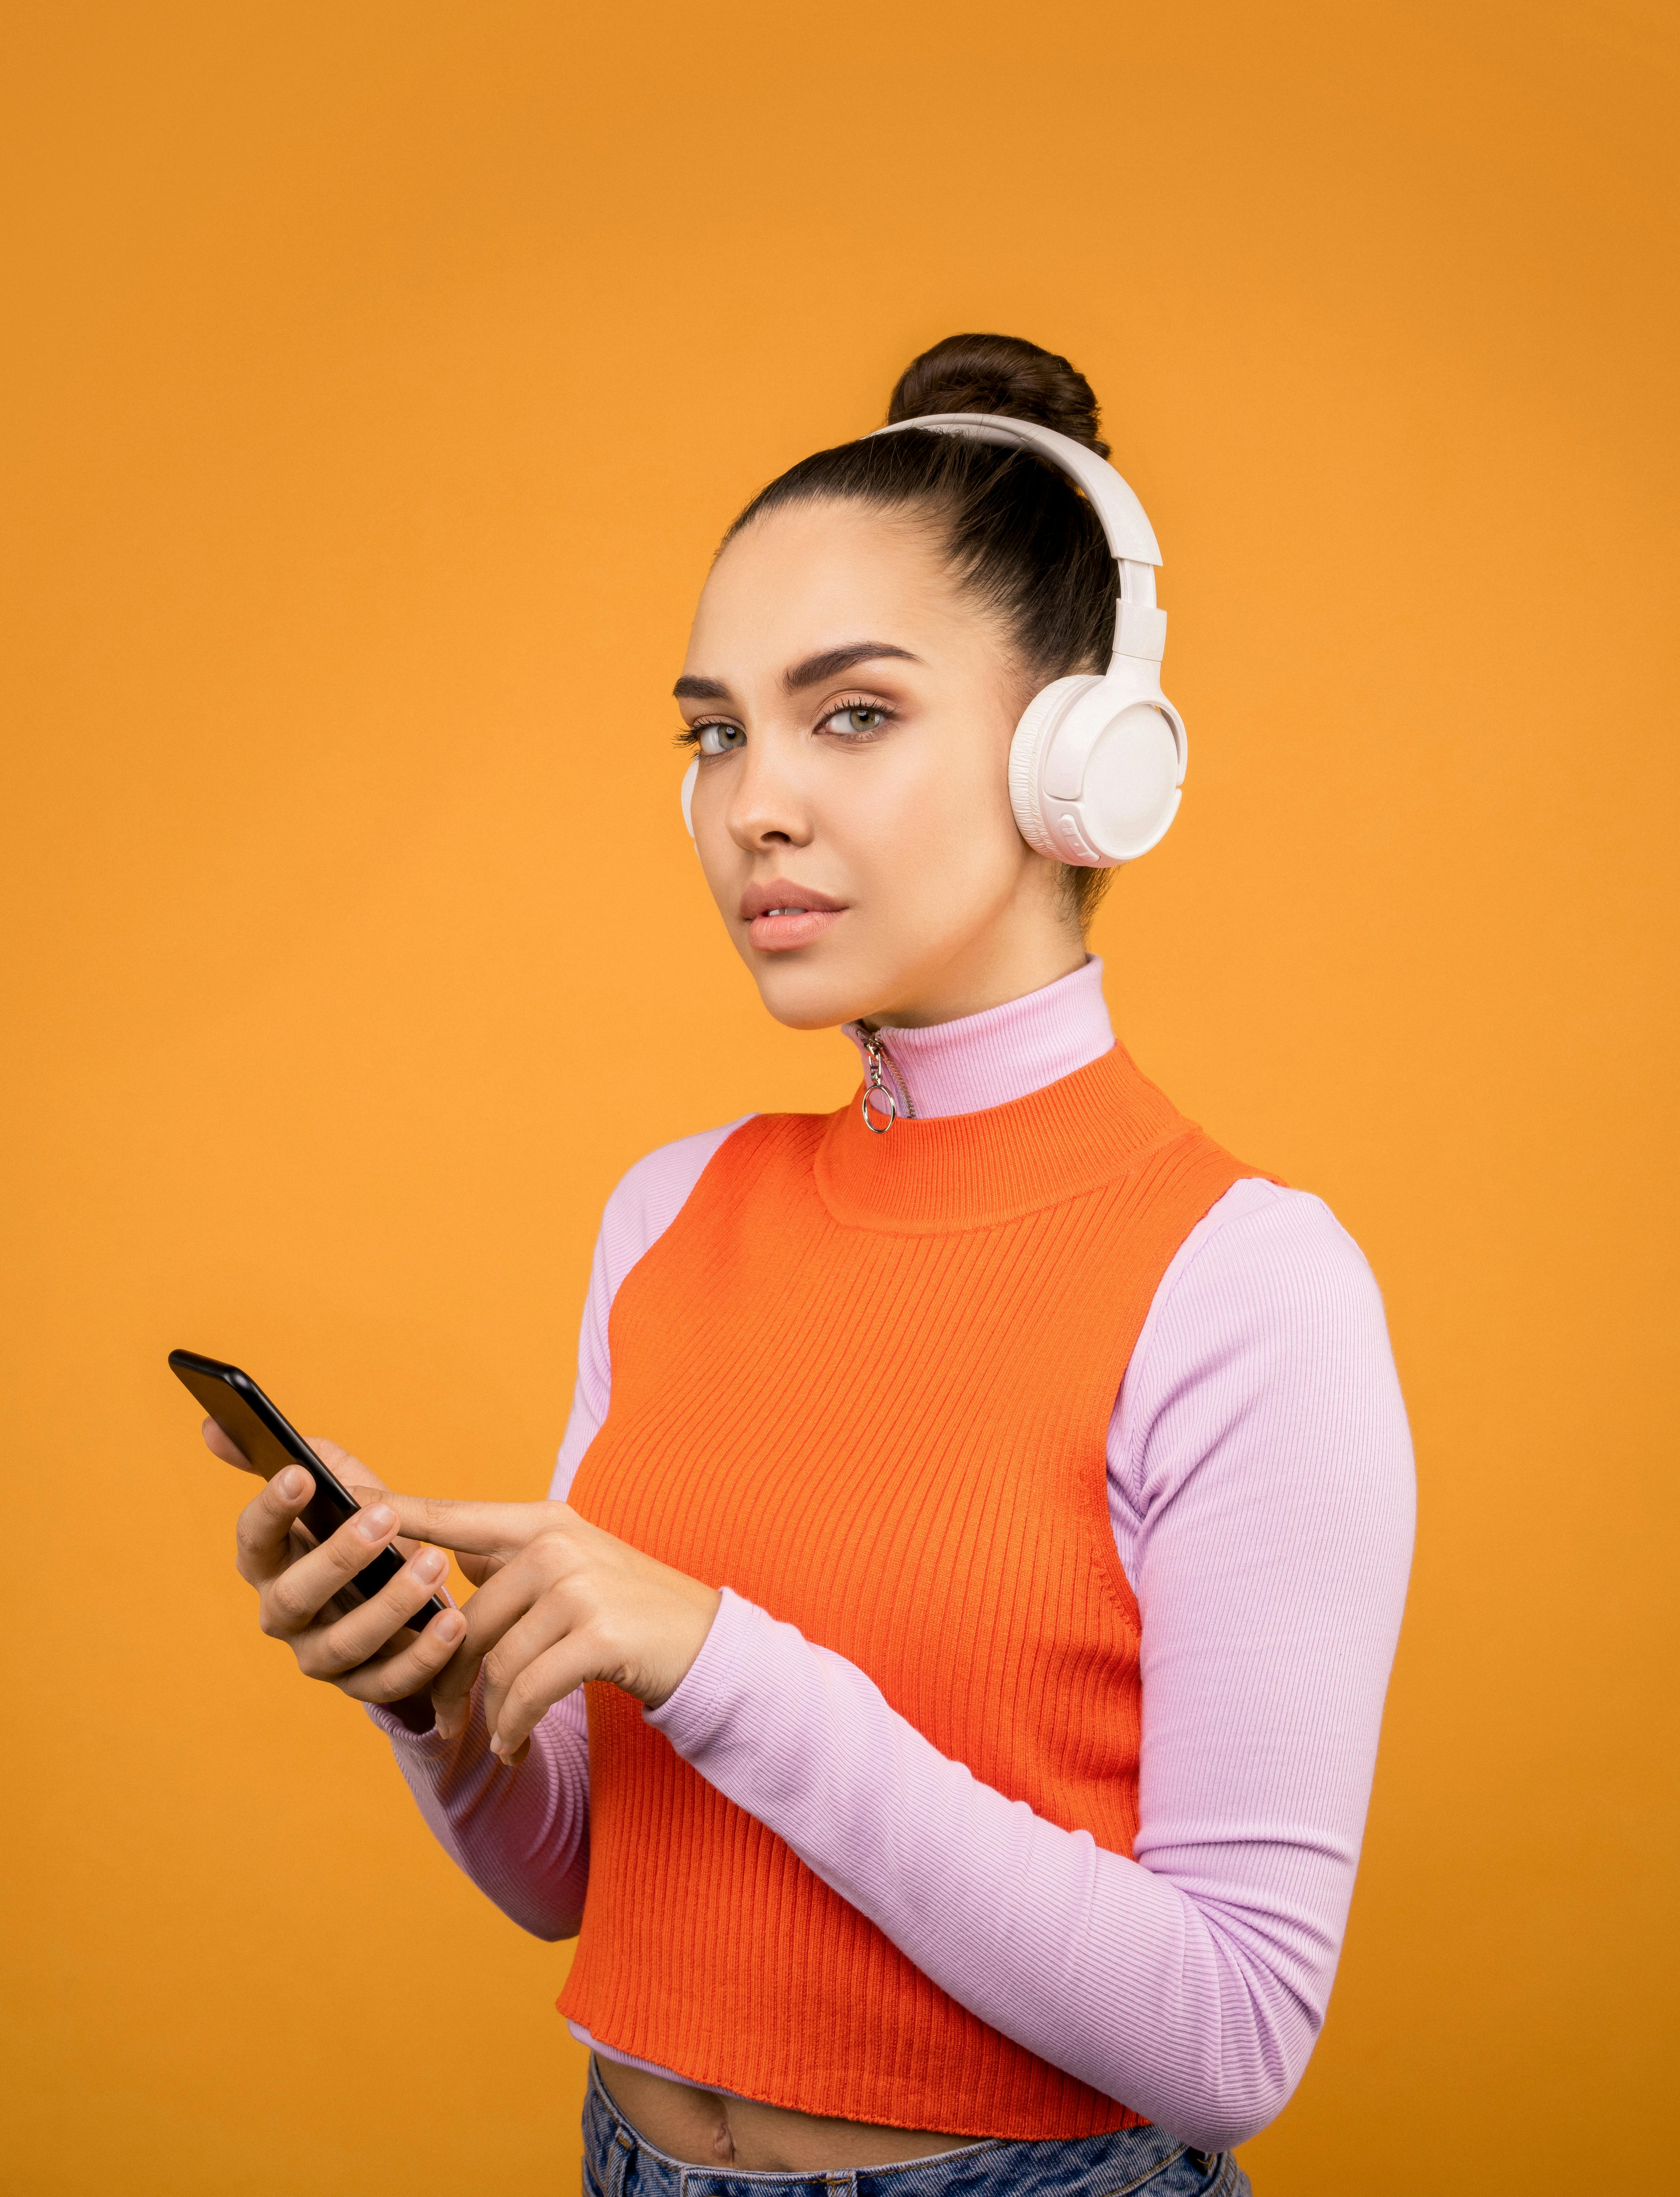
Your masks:
M718 556L683 670L780 677L863 633L936 661L979 642L979 626L925 523L859 503L793 503L742 527Z

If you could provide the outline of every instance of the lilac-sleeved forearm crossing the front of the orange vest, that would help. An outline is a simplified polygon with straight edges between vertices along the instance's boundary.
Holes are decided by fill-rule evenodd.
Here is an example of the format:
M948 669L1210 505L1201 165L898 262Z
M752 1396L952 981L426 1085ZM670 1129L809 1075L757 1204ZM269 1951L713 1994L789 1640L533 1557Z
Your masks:
M1250 1907L1210 1896L1192 1863L1177 1881L1102 1852L733 1595L650 1722L953 1999L1105 2096L1217 2149L1298 2081L1322 1955L1302 1909L1324 1887L1298 1883L1296 1850L1250 1841Z

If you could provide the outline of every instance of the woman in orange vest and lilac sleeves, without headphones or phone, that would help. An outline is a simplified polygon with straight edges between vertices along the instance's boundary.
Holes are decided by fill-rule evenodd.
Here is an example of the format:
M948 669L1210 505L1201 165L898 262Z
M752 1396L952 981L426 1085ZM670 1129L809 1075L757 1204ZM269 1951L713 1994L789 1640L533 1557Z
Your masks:
M889 417L940 413L1107 455L1012 338L911 365ZM863 1107L630 1169L547 1503L380 1501L323 1446L351 1525L292 1536L296 1470L242 1516L264 1628L505 1914L582 1933L600 2190L1243 2190L1324 2015L1405 1417L1359 1252L1140 1077L1085 953L1107 872L1017 826L1017 721L1113 633L1030 450L896 433L747 508L676 681L692 828ZM415 1637L428 1544L479 1593Z

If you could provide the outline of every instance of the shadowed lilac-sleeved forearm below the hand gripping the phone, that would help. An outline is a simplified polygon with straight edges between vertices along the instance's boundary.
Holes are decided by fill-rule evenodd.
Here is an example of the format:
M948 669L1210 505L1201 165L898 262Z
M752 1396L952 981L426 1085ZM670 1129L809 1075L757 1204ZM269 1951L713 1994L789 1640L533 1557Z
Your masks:
M575 1938L589 1885L589 1731L582 1692L531 1733L518 1769L490 1753L483 1687L459 1740L371 1709L444 1852L534 1938Z

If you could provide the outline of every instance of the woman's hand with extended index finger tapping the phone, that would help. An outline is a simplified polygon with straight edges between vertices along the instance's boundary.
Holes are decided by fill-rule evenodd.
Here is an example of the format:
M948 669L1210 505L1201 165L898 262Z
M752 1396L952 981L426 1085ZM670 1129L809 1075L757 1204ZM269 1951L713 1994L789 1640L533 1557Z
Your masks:
M643 1707L690 1674L723 1599L683 1571L604 1534L567 1503L384 1498L402 1534L457 1549L483 1577L466 1604L466 1639L433 1681L444 1738L466 1731L483 1665L490 1747L520 1762L534 1727L584 1679L621 1685Z

